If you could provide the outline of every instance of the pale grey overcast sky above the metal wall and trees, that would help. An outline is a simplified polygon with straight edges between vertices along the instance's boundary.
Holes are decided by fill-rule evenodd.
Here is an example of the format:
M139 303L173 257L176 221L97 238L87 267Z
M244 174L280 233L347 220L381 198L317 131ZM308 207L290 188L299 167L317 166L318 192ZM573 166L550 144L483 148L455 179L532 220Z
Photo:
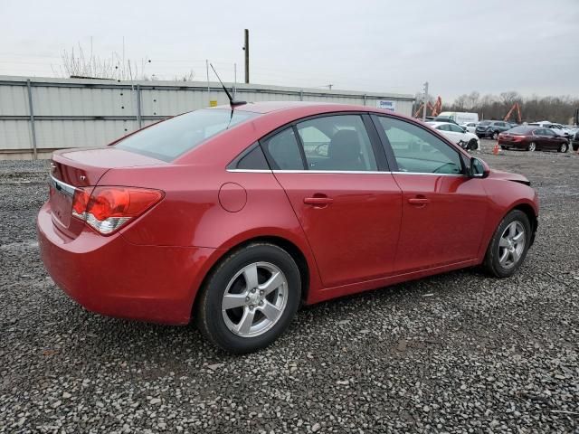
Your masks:
M0 0L0 75L60 71L64 49L113 52L170 80L205 59L243 80L243 29L259 84L433 95L579 96L579 0ZM214 80L212 78L212 80Z

